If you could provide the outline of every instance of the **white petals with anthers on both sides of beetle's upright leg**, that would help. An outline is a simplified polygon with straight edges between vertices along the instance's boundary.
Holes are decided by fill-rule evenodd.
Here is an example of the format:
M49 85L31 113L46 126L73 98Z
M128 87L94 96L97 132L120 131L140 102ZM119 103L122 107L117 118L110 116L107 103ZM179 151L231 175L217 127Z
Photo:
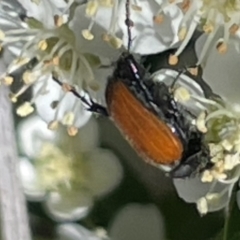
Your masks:
M128 48L126 3L115 0L108 5L107 2L88 1L86 15L91 19L89 34L94 36L91 30L95 23L105 29L102 35L106 42L115 48L120 48L123 42L124 47ZM133 23L131 52L139 54L162 52L179 40L178 29L183 15L177 6L170 5L163 9L161 4L155 1L137 0L130 2L129 8L129 18Z

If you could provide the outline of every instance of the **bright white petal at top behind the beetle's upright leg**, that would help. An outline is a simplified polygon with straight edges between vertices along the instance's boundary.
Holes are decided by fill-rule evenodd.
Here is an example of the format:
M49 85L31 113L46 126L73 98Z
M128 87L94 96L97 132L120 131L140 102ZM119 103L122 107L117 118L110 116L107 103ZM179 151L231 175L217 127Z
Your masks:
M134 26L131 28L131 52L153 54L169 49L178 41L177 33L182 19L182 12L175 5L165 11L161 24L155 24L153 17L160 6L154 1L137 1L142 11L131 10L130 19ZM119 13L119 26L124 33L124 46L128 44L128 33L125 24L125 3L122 1Z

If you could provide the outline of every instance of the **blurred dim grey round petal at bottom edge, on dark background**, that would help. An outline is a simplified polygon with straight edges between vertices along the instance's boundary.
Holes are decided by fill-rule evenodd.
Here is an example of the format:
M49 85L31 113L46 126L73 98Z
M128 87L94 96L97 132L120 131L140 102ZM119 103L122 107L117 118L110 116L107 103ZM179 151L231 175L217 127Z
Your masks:
M154 205L129 204L113 220L109 235L114 240L163 240L163 219Z

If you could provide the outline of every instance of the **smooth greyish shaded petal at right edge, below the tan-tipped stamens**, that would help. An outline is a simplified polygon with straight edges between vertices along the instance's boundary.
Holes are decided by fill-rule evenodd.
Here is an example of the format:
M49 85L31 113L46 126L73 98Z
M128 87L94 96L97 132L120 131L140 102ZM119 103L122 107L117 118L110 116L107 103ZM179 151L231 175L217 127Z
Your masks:
M196 43L199 55L205 41L202 36ZM240 58L233 44L228 44L228 51L220 54L212 47L203 71L203 79L212 87L216 94L227 98L231 103L240 103Z

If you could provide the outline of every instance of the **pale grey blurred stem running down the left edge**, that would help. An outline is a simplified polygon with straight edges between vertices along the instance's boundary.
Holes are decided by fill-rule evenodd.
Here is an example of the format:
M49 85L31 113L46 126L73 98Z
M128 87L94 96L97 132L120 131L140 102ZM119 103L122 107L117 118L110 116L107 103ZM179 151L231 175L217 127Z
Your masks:
M0 213L3 240L30 240L26 201L18 177L8 89L0 86Z

